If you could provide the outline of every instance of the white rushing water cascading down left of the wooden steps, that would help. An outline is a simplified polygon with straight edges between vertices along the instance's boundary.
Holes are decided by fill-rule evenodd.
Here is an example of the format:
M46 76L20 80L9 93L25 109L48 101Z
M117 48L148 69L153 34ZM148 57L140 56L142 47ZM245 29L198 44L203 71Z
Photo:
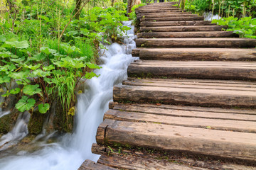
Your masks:
M124 22L131 26L131 21ZM43 143L43 149L28 153L18 152L18 155L0 159L1 170L73 170L85 161L97 161L99 155L92 154L92 143L96 142L97 127L102 123L103 115L108 110L108 103L112 101L114 84L122 83L127 78L127 67L134 60L131 52L135 48L134 27L124 35L124 44L108 45L108 50L101 50L100 59L104 64L102 69L96 70L98 78L87 81L88 88L78 97L78 111L75 132L65 135L60 142ZM1 153L1 152L0 152Z

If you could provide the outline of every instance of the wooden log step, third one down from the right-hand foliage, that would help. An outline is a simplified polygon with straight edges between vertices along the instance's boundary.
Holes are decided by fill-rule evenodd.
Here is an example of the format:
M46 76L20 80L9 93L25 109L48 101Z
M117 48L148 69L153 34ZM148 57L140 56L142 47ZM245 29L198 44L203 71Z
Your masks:
M138 60L129 77L256 80L256 62Z

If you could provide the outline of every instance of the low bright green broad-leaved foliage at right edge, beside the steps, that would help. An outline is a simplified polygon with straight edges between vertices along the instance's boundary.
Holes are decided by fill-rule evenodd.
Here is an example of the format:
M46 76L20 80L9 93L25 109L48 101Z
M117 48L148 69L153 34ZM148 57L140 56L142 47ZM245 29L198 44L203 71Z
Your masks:
M228 18L220 18L220 20L213 20L213 23L217 23L220 26L228 26L228 30L234 31L240 35L241 38L256 38L256 18L234 18L230 16Z

